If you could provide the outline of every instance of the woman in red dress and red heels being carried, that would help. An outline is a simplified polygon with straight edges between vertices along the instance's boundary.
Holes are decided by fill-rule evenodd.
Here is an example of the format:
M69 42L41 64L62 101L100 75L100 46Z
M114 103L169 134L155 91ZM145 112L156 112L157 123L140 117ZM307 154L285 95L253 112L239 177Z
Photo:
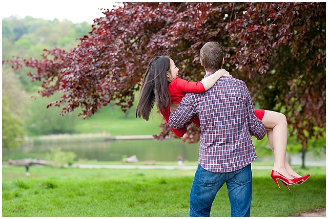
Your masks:
M152 58L148 64L144 81L141 85L139 101L136 107L136 117L142 117L148 121L154 103L156 103L158 111L168 123L170 113L177 107L186 93L206 92L220 77L231 77L229 72L220 69L201 81L190 82L179 78L178 72L179 69L170 57L156 56ZM268 133L269 145L275 155L272 175L280 174L286 178L286 180L301 178L301 176L292 169L286 157L288 137L286 117L281 113L264 109L255 109L255 116L264 123ZM190 122L200 126L197 116L192 118ZM187 132L187 127L171 129L178 137L182 137ZM309 174L302 177L302 181L298 182L296 185L302 184L309 177ZM289 189L288 183L282 183ZM280 188L277 182L276 184Z

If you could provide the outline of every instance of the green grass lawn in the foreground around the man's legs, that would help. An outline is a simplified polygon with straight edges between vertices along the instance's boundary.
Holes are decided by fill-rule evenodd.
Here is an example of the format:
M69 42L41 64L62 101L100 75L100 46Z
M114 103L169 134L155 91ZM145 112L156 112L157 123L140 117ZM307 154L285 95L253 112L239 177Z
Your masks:
M253 170L251 216L296 216L325 206L325 167L297 170L308 181L278 189L270 170ZM78 169L35 167L2 169L2 216L188 216L195 170ZM211 216L230 216L225 186Z

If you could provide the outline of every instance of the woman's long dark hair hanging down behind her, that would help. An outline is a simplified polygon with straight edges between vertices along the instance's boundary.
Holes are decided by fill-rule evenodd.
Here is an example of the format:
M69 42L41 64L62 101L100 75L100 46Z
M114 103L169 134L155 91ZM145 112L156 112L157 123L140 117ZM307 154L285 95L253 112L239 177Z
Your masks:
M136 117L142 117L148 121L154 103L160 112L170 106L172 99L169 93L167 71L170 72L169 56L155 56L150 60L141 84L139 101L135 111Z

